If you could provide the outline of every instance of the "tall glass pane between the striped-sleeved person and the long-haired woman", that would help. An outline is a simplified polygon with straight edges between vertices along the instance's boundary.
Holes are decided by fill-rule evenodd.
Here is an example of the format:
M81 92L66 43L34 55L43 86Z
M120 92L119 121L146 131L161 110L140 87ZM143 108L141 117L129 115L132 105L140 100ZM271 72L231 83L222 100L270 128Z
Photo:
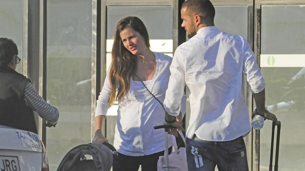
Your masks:
M47 101L60 114L47 128L50 170L91 141L91 27L91 0L47 1Z

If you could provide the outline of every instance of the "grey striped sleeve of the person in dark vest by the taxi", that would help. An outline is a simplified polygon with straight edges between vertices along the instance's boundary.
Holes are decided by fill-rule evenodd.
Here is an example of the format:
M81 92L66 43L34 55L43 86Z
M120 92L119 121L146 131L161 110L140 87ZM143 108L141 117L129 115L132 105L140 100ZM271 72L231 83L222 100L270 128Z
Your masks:
M59 118L59 111L47 103L34 88L31 82L27 82L24 91L24 100L26 105L30 106L32 110L38 113L38 115L52 124L55 124Z

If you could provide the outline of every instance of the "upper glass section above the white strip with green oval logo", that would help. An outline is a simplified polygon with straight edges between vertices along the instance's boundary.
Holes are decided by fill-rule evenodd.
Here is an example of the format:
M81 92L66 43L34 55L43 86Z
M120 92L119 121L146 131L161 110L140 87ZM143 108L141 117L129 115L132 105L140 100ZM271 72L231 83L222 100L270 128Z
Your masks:
M305 54L305 5L263 5L261 54Z

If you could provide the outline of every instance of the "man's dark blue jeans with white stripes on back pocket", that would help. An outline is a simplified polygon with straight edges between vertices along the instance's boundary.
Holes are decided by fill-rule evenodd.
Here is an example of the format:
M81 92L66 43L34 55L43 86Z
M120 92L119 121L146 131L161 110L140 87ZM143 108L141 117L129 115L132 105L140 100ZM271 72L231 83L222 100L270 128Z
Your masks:
M239 137L231 141L205 141L186 138L189 171L248 171L246 146Z

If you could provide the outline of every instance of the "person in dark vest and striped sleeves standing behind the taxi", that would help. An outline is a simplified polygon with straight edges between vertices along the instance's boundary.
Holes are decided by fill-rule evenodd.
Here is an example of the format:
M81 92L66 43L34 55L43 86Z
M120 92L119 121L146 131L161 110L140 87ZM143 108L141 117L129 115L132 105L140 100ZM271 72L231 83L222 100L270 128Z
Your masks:
M0 125L37 134L34 112L52 127L57 124L59 111L48 104L30 79L15 71L20 62L13 40L0 38Z

